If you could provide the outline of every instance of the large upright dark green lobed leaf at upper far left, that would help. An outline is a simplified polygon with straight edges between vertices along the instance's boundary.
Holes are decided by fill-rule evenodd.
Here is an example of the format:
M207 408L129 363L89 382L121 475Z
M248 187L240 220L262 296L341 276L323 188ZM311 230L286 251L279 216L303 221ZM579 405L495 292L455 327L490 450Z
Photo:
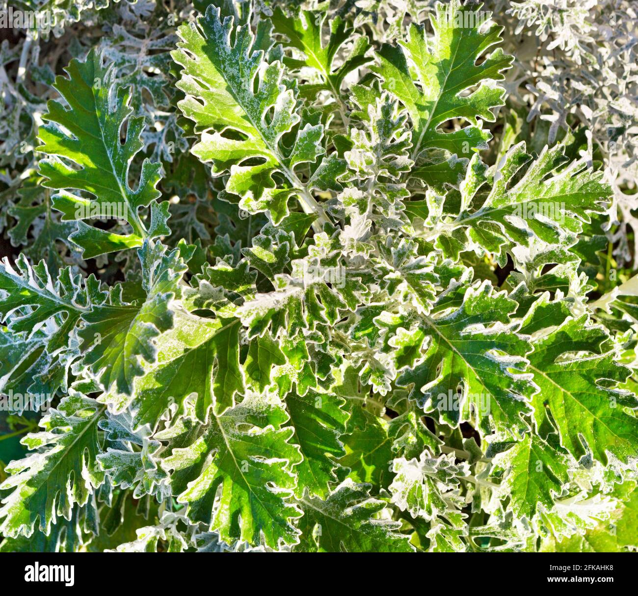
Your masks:
M130 117L130 89L114 84L114 70L103 66L99 52L91 50L87 59L74 59L66 68L68 78L57 76L54 87L68 103L49 101L43 120L50 124L40 127L42 145L38 151L49 157L40 161L43 185L60 191L54 194L53 206L63 213L63 220L85 220L92 217L122 219L131 226L131 233L119 234L78 222L78 231L71 240L84 249L84 258L105 252L141 246L145 238L166 235L168 203L158 206L161 164L142 163L140 180L135 191L129 186L131 161L143 147L140 134L143 117ZM126 140L120 141L126 122ZM56 126L59 125L59 126ZM75 164L71 167L63 159ZM84 198L67 189L84 191L93 196ZM150 227L140 219L142 207L151 208Z

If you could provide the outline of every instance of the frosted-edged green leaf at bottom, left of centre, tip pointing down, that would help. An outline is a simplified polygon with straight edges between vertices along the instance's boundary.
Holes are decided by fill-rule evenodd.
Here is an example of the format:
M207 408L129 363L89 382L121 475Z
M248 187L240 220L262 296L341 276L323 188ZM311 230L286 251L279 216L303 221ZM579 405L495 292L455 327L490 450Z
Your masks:
M300 511L290 497L295 487L293 466L301 462L292 444L292 428L283 405L259 395L214 417L195 437L185 429L184 446L162 461L171 473L177 501L187 505L191 521L218 530L223 541L249 541L278 548L295 544L299 530L293 521ZM159 435L160 439L168 435ZM215 497L221 486L219 504Z

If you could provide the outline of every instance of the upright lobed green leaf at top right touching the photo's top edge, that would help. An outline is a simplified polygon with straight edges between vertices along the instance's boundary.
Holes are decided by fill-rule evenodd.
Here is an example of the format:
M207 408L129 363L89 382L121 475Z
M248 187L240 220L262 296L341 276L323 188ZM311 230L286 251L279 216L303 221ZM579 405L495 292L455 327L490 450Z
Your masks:
M446 164L444 156L465 159L487 149L491 134L480 127L480 119L494 122L493 108L504 103L505 91L495 83L505 78L503 71L510 68L514 57L497 48L477 64L479 57L502 41L503 30L490 25L480 31L481 14L476 6L461 6L459 0L437 3L430 17L432 38L426 37L424 25L412 23L407 40L399 42L401 47L383 44L378 50L380 65L372 67L382 76L383 89L394 93L410 113L410 157L417 165L410 176L434 188L461 181L464 169L457 168L454 157ZM478 88L465 96L463 91L471 87ZM451 118L463 119L470 126L442 132L441 126Z

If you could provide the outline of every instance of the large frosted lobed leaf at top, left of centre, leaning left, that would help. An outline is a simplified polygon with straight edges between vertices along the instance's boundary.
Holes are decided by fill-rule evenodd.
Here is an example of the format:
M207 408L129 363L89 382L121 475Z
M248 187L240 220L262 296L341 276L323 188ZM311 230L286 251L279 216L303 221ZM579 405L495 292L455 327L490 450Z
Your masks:
M183 67L177 86L186 98L179 107L200 135L192 152L212 163L214 175L230 170L226 190L239 195L240 207L249 213L267 211L278 223L288 215L288 199L297 196L306 212L326 221L311 188L295 173L297 164L314 163L325 152L323 126L297 126L295 90L284 82L281 62L264 64L264 50L249 25L234 26L233 20L222 21L219 8L209 6L197 23L179 29L180 49L172 52ZM257 37L268 38L270 26L261 21ZM294 127L296 140L286 151L281 138ZM246 164L253 158L259 163ZM278 187L276 172L284 175L286 187Z

